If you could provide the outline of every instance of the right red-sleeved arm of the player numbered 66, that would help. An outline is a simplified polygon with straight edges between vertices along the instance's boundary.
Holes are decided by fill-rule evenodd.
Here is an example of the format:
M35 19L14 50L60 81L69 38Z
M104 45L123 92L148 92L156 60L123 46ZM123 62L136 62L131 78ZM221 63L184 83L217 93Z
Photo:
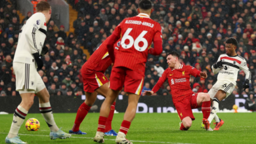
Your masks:
M163 51L163 41L162 41L162 36L161 36L161 26L160 24L157 25L157 31L153 37L153 42L154 42L154 48L150 48L148 53L158 56L161 54Z

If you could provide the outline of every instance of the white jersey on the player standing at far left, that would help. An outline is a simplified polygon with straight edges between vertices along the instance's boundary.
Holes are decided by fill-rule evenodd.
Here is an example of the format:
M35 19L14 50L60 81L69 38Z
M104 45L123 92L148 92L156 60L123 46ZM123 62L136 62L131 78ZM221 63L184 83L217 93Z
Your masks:
M47 26L45 15L41 12L33 14L20 30L14 62L32 63L34 53L41 54L45 43Z

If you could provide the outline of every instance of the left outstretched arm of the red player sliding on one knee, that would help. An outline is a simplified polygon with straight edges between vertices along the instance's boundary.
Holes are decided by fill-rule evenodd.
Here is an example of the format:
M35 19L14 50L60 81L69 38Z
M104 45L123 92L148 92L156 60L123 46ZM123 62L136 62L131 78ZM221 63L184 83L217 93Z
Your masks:
M160 79L158 80L158 82L156 83L156 85L154 86L154 88L152 88L152 90L144 90L144 92L142 92L142 96L152 96L154 93L158 92L158 90L161 88L161 86L163 85L163 83L165 82L165 80L167 79L167 70L165 70L163 72L163 75L161 75Z

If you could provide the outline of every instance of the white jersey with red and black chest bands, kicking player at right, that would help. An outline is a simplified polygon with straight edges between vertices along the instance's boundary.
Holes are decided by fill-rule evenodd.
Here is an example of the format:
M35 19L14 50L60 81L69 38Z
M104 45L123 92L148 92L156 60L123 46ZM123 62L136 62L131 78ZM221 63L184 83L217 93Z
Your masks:
M223 68L215 69L213 66L211 66L214 74L217 74L219 72L219 75L217 77L218 81L226 80L234 82L234 84L236 84L236 80L238 79L238 71L240 69L244 71L246 75L245 79L248 79L249 81L251 80L251 72L247 67L246 60L242 58L242 56L228 56L226 54L221 54L217 62L221 60L223 63Z

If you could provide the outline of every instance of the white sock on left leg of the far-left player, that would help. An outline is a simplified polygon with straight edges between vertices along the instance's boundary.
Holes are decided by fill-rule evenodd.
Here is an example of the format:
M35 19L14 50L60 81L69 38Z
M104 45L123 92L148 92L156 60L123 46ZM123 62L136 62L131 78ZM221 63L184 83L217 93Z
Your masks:
M8 134L9 138L17 136L18 130L20 130L20 126L23 124L27 114L28 111L26 111L26 109L18 105L13 115L12 126Z

